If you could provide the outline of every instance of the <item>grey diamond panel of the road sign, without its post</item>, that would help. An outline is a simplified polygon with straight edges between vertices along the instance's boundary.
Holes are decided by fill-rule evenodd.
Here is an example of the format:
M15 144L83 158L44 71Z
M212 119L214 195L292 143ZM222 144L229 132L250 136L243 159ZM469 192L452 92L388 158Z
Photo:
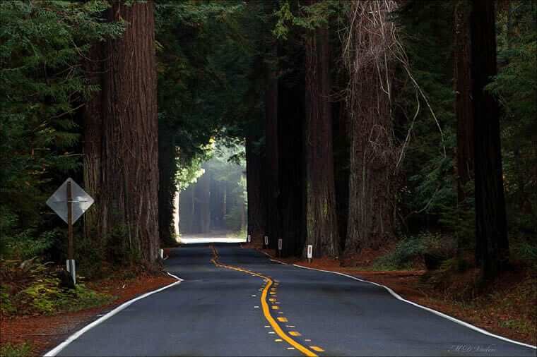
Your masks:
M76 222L88 208L93 205L93 198L78 186L72 178L67 178L64 183L50 196L47 205L59 215L61 219L67 222L67 183L71 182L71 202L73 203L72 220Z

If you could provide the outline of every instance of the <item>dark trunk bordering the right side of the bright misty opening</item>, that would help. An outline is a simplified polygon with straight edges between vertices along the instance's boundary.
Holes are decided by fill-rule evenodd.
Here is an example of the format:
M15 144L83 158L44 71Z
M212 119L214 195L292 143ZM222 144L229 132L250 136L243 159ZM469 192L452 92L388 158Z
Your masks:
M259 147L254 146L256 138L246 138L246 183L248 195L248 234L256 246L263 244L266 231L263 190L261 189L261 155Z

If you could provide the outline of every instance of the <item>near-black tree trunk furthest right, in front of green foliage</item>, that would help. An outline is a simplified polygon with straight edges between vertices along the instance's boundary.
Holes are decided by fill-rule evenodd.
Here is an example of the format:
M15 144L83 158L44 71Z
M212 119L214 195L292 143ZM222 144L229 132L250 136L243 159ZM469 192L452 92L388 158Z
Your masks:
M476 119L476 262L483 279L507 265L509 242L500 148L500 109L485 86L497 74L494 1L473 0L471 13L473 112Z

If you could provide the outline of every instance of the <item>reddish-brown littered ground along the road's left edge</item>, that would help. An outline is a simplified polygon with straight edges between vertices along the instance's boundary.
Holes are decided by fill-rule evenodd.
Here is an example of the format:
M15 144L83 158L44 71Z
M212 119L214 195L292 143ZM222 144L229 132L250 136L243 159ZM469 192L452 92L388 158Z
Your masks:
M86 282L85 286L101 294L112 296L112 301L94 308L55 315L11 315L0 313L0 355L42 356L70 334L81 329L95 317L112 310L125 301L176 282L164 274L142 274L125 278L125 274Z

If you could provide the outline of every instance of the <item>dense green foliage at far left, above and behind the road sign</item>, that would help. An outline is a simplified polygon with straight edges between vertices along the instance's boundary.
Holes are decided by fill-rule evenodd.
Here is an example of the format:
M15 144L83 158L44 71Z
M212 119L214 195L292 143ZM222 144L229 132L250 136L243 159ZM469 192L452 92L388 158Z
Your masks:
M81 166L76 109L98 90L85 83L80 62L92 42L122 32L122 24L100 19L108 6L0 2L2 256L27 258L52 244L53 233L37 234L50 218L42 214L44 203L60 177Z

